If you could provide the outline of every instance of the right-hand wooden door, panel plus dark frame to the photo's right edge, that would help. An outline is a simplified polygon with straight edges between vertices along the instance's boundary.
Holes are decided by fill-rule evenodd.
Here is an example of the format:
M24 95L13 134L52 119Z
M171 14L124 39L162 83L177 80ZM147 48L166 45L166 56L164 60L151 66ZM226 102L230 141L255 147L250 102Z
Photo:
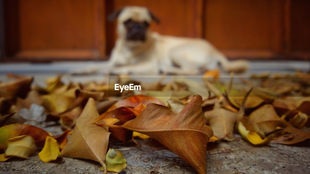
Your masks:
M204 37L231 59L310 59L309 7L308 0L206 0Z

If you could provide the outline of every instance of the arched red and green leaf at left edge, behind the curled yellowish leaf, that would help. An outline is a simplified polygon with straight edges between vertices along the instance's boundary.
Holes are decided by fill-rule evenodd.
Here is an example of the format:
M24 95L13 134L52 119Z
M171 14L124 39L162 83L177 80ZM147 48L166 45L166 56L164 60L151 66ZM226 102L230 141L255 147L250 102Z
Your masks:
M21 135L30 135L39 147L43 146L45 138L49 136L45 130L29 124L9 124L0 128L0 149L5 148L8 139Z

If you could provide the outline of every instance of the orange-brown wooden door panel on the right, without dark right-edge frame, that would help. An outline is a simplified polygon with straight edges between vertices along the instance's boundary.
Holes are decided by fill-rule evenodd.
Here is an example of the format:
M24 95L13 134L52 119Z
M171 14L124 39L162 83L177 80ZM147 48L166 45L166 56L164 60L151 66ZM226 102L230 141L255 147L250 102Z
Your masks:
M228 56L270 57L281 51L280 0L207 0L205 38Z

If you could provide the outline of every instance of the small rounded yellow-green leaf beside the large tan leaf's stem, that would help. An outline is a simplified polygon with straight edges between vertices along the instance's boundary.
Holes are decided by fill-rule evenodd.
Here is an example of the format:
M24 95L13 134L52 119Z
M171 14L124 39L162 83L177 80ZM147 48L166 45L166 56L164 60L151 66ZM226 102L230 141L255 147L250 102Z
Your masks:
M123 154L111 148L105 156L104 163L107 166L108 172L121 172L127 165ZM100 167L100 170L104 171L104 168Z

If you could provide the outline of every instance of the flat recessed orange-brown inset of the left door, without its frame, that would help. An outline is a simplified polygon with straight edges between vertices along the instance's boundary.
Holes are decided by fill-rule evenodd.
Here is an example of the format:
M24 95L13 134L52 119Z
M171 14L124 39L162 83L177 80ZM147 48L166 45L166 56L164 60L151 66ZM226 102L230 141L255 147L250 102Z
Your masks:
M21 49L94 47L94 1L20 1Z

